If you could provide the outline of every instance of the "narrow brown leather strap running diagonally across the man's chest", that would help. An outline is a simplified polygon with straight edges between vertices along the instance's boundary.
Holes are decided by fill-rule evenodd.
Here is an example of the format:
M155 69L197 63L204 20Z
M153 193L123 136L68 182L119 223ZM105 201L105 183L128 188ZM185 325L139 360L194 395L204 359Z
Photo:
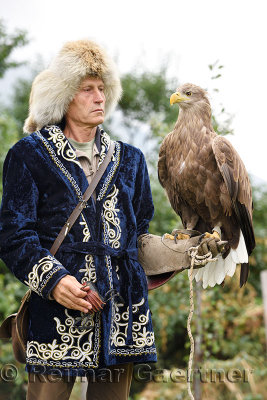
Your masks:
M90 199L90 197L94 193L94 190L97 187L98 182L100 181L100 179L101 179L102 175L104 174L108 164L111 161L111 157L112 157L112 154L113 154L114 150L115 150L115 142L111 141L109 149L108 149L108 152L106 154L106 157L104 158L104 161L100 165L99 169L96 171L96 173L95 173L95 175L94 175L94 177L92 179L92 182L90 183L90 185L88 186L88 188L84 192L83 199L81 201L79 201L77 206L74 208L74 210L72 211L72 213L69 216L68 220L66 221L65 225L63 226L63 228L59 232L56 240L54 241L53 246L50 249L50 253L53 256L58 251L61 243L63 242L63 240L65 239L65 237L69 233L69 231L70 231L71 227L73 226L74 222L77 220L77 218L81 214L82 210L86 206L86 202Z

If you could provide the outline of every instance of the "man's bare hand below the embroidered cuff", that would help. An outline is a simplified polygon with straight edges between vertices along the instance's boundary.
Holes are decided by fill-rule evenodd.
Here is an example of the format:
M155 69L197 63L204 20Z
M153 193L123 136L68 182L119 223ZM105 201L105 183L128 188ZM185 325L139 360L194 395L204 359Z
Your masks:
M92 304L83 299L87 296L87 291L82 288L83 285L74 276L66 275L54 287L51 294L62 306L87 313L92 310Z

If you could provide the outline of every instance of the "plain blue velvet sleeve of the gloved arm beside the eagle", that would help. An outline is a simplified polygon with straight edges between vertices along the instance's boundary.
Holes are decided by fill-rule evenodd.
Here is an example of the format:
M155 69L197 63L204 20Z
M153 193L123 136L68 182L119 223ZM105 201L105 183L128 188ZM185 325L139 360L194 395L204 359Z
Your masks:
M133 207L136 216L138 237L148 232L149 222L154 215L149 175L143 153L141 153L139 168L136 175Z

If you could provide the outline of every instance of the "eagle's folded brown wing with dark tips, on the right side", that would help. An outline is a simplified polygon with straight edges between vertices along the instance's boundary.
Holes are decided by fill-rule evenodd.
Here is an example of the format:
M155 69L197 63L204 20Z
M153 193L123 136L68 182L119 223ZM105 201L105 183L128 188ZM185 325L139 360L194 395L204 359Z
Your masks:
M248 255L255 247L252 225L252 193L248 173L232 144L223 136L216 136L212 149L231 198L232 210L244 235Z

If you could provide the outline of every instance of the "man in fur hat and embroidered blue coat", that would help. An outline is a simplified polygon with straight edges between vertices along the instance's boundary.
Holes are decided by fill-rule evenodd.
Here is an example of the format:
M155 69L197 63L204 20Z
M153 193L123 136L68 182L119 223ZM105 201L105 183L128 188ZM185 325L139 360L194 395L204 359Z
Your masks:
M30 400L68 399L75 376L103 367L116 369L119 382L114 374L113 382L92 380L87 398L126 399L133 363L157 359L146 277L137 261L137 238L153 216L140 150L116 142L94 195L56 255L49 251L106 157L111 140L99 125L120 95L116 67L100 46L65 44L34 80L25 123L30 135L5 160L0 256L32 289ZM120 297L96 310L86 281L103 298L111 289ZM85 329L77 323L83 319ZM61 378L52 379L55 374Z

